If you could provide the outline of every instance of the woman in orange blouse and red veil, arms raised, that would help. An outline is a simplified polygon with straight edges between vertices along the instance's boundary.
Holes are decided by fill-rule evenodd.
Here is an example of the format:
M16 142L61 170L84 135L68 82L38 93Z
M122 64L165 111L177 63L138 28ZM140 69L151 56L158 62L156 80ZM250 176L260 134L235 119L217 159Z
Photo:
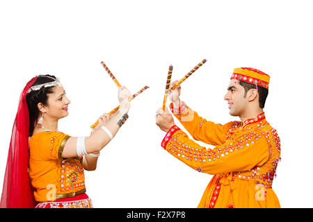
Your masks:
M70 137L58 131L70 104L60 81L32 78L19 99L0 207L93 207L83 170L96 169L99 151L128 118L129 96L120 87L120 110L99 117L89 137Z

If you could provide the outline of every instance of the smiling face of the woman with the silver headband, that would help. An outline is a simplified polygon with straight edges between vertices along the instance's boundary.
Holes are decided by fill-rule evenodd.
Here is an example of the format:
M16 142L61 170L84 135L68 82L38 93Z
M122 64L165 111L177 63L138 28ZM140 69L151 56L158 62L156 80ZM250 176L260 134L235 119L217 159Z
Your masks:
M61 119L68 115L68 104L70 100L65 95L63 87L56 85L54 92L48 94L47 105L45 105L45 115L54 119Z

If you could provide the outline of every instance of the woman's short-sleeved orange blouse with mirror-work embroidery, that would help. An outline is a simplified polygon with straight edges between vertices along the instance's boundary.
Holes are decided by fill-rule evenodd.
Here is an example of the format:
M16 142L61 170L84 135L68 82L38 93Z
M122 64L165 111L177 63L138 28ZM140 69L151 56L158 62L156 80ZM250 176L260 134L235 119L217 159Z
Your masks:
M62 157L69 137L64 133L48 131L29 139L29 177L35 188L35 200L67 198L86 191L83 158Z

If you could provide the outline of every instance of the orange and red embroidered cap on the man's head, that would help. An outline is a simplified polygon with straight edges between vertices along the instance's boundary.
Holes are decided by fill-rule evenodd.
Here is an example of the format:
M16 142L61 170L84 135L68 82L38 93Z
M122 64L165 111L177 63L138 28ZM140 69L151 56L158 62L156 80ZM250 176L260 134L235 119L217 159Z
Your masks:
M241 80L268 89L270 76L263 71L259 71L259 69L241 67L234 69L230 79Z

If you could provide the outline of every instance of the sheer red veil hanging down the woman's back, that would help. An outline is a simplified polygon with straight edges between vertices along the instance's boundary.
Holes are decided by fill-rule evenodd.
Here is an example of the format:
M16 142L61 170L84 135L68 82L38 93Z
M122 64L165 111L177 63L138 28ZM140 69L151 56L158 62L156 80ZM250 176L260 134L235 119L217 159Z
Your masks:
M29 108L26 94L37 76L26 84L19 97L19 107L15 117L6 173L3 180L0 207L30 208L35 207L33 188L29 181Z

